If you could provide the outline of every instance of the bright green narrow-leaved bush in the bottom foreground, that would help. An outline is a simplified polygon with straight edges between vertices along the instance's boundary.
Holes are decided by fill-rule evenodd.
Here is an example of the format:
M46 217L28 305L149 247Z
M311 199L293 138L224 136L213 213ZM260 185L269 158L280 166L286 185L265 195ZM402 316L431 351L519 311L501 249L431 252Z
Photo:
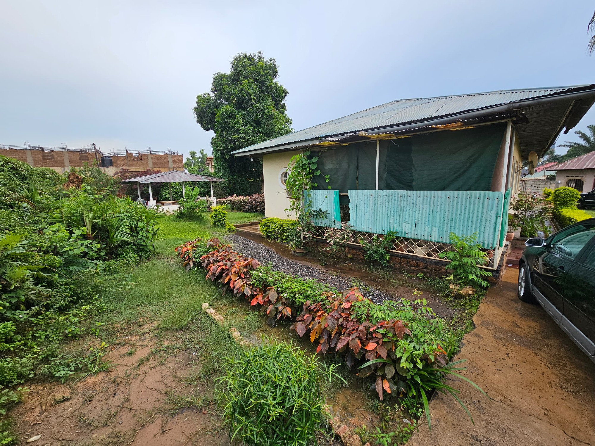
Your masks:
M318 367L315 356L270 339L228 358L218 389L230 438L250 446L311 444L324 420Z

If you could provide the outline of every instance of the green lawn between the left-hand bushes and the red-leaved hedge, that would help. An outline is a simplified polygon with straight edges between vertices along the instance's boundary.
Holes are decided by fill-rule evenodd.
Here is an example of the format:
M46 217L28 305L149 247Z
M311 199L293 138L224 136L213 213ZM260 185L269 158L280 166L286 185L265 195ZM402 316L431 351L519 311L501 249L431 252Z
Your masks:
M259 213L230 212L234 221L255 221ZM221 237L224 230L211 228L208 218L185 221L164 216L159 220L157 255L131 271L130 281L107 287L104 300L109 323L134 325L140 318L148 318L164 330L179 330L196 321L202 304L221 307L220 313L240 332L249 334L264 325L248 305L226 294L211 281L205 280L201 269L181 268L174 248L196 237ZM112 289L113 288L113 289Z

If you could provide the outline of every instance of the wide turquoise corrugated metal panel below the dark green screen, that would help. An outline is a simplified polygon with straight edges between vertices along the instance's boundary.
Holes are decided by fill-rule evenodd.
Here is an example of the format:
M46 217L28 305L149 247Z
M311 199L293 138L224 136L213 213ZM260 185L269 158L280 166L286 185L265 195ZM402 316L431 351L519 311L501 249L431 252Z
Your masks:
M349 190L353 229L449 243L449 234L478 233L484 248L498 245L502 192L459 190Z

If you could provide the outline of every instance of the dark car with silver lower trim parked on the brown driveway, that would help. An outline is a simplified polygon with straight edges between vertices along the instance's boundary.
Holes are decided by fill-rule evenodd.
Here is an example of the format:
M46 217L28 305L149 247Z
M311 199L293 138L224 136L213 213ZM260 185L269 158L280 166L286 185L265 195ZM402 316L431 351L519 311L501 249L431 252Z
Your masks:
M529 238L519 260L518 297L536 300L595 362L595 218Z

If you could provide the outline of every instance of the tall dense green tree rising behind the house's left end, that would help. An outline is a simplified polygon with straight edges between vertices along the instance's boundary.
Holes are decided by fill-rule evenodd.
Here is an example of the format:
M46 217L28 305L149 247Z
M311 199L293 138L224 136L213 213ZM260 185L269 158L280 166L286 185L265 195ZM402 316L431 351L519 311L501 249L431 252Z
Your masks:
M261 159L236 158L231 152L293 130L284 102L287 90L277 76L275 59L242 53L233 58L230 73L215 74L211 93L196 96L196 122L215 132L215 172L226 179L228 194L255 193L262 183Z

